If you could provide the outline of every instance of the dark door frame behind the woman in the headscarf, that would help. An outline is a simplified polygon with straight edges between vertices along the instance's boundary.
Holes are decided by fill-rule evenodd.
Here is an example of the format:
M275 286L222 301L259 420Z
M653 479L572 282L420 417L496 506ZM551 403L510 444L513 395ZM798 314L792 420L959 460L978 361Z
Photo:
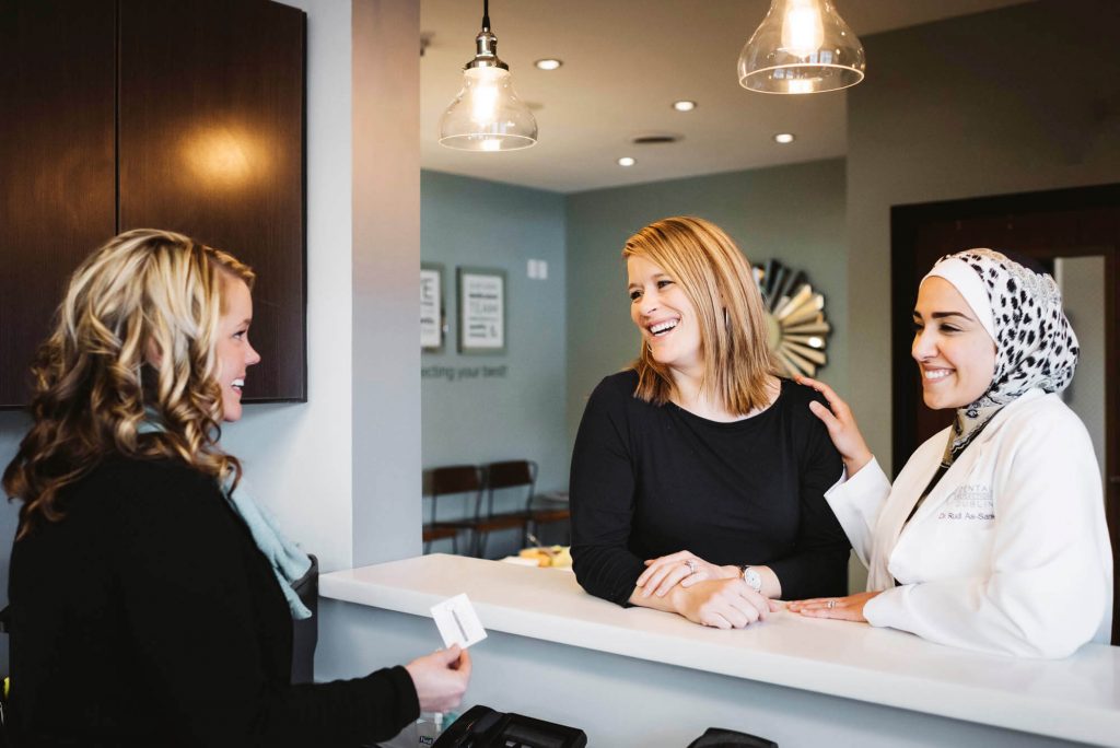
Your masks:
M1120 184L1094 187L1075 187L1038 193L1000 195L995 197L978 197L970 199L945 200L922 205L898 205L890 208L890 336L892 336L892 390L893 390L893 424L892 447L894 465L902 466L905 458L917 448L916 418L918 390L913 377L914 362L909 356L913 337L909 324L914 305L917 273L915 247L922 226L931 223L950 221L969 221L982 218L999 218L1006 216L1008 224L1016 219L1042 214L1053 214L1073 211L1102 212L1120 209ZM1105 219L1093 223L1075 237L1079 246L1105 247L1105 340L1117 339L1118 292L1120 292L1120 222ZM1109 249L1111 247L1111 249ZM967 246L961 250L969 249ZM999 249L999 246L992 246ZM1098 252L1093 252L1096 254ZM1075 256L1076 251L1055 247L1053 253L1046 250L1042 255ZM1112 643L1120 643L1120 615L1117 606L1120 604L1120 346L1107 345L1105 349L1105 515L1109 533L1112 539L1113 555L1113 616ZM895 473L897 474L897 468Z

